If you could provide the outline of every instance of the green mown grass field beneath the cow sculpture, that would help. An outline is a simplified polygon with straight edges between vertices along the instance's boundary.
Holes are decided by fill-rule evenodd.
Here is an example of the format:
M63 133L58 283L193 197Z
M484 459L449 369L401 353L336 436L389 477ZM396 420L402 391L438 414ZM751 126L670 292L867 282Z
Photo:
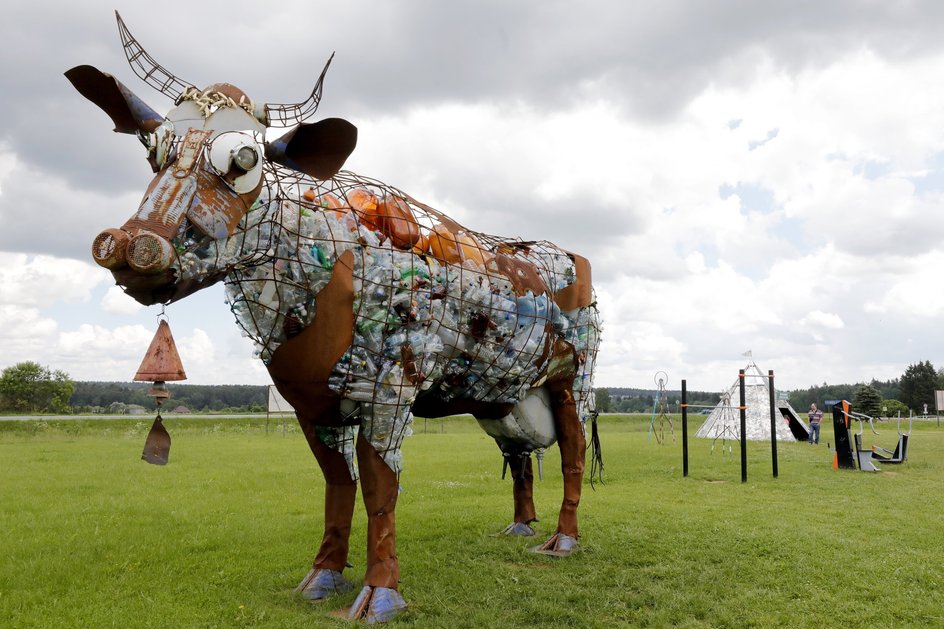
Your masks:
M703 418L694 419L691 432ZM0 422L0 626L349 626L292 593L321 538L323 484L298 429L167 419L170 464L139 457L150 421ZM944 429L915 425L909 461L831 469L832 441L768 443L740 459L675 441L648 417L606 417L603 486L585 487L582 550L527 552L556 524L552 448L538 538L496 535L511 482L472 420L417 420L398 507L394 626L944 626ZM424 427L428 432L424 432ZM444 428L444 431L443 431ZM894 425L865 443L893 448ZM668 433L667 433L668 435ZM364 571L364 515L352 539Z

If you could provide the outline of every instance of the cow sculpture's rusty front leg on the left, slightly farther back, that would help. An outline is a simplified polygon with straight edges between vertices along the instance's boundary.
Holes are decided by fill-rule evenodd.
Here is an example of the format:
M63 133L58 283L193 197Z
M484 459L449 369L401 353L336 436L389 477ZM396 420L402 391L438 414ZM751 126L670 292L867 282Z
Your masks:
M314 433L308 441L325 477L325 526L312 568L296 591L307 599L320 601L354 589L342 572L347 566L357 482L341 452L326 446Z

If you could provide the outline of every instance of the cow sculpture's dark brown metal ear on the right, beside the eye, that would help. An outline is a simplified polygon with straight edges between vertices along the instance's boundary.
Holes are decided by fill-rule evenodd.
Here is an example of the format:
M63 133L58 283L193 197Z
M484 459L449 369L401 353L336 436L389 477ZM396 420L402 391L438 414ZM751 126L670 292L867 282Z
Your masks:
M315 179L334 177L357 146L357 127L341 118L300 124L266 143L266 157Z

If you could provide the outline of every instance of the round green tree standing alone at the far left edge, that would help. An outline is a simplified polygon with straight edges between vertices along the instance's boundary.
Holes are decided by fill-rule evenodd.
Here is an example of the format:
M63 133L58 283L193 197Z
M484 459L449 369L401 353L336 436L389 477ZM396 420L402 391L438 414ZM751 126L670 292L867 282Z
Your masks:
M32 361L7 367L0 374L0 405L25 413L69 411L75 383L64 371L51 371Z

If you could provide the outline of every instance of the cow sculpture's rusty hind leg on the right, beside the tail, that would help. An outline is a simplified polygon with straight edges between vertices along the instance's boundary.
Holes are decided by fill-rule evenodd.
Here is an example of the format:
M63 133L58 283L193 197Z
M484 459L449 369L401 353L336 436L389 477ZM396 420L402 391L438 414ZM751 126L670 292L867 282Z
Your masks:
M557 519L557 531L535 551L552 555L569 555L577 546L577 507L583 485L586 457L586 438L577 415L577 403L568 384L548 387L557 444L561 453L561 472L564 475L564 501Z

